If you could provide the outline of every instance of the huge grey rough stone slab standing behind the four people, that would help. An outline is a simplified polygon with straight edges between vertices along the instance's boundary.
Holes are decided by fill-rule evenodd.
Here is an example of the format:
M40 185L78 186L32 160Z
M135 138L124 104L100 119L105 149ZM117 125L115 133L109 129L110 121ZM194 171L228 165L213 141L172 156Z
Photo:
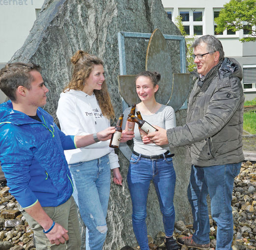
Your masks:
M161 0L45 0L27 40L13 55L11 62L33 62L42 67L42 76L49 88L45 109L58 123L57 101L71 78L70 57L76 50L98 55L105 62L107 85L118 116L122 113L117 81L117 76L121 75L118 32L152 33L156 28L162 34L180 36L177 27L168 19ZM127 75L136 75L145 70L148 42L149 39L136 37L125 39ZM179 41L167 40L166 43L171 58L170 72L182 73ZM157 67L155 65L156 71ZM176 112L177 125L185 123L185 116L184 109ZM173 162L177 181L174 205L176 220L191 223L192 216L186 195L190 166L184 164L184 155L184 148L175 150ZM120 151L118 156L124 182L121 187L112 184L105 250L119 250L125 245L136 245L131 219L132 204L126 183L128 161ZM147 214L148 234L154 237L164 228L153 184L148 195Z

